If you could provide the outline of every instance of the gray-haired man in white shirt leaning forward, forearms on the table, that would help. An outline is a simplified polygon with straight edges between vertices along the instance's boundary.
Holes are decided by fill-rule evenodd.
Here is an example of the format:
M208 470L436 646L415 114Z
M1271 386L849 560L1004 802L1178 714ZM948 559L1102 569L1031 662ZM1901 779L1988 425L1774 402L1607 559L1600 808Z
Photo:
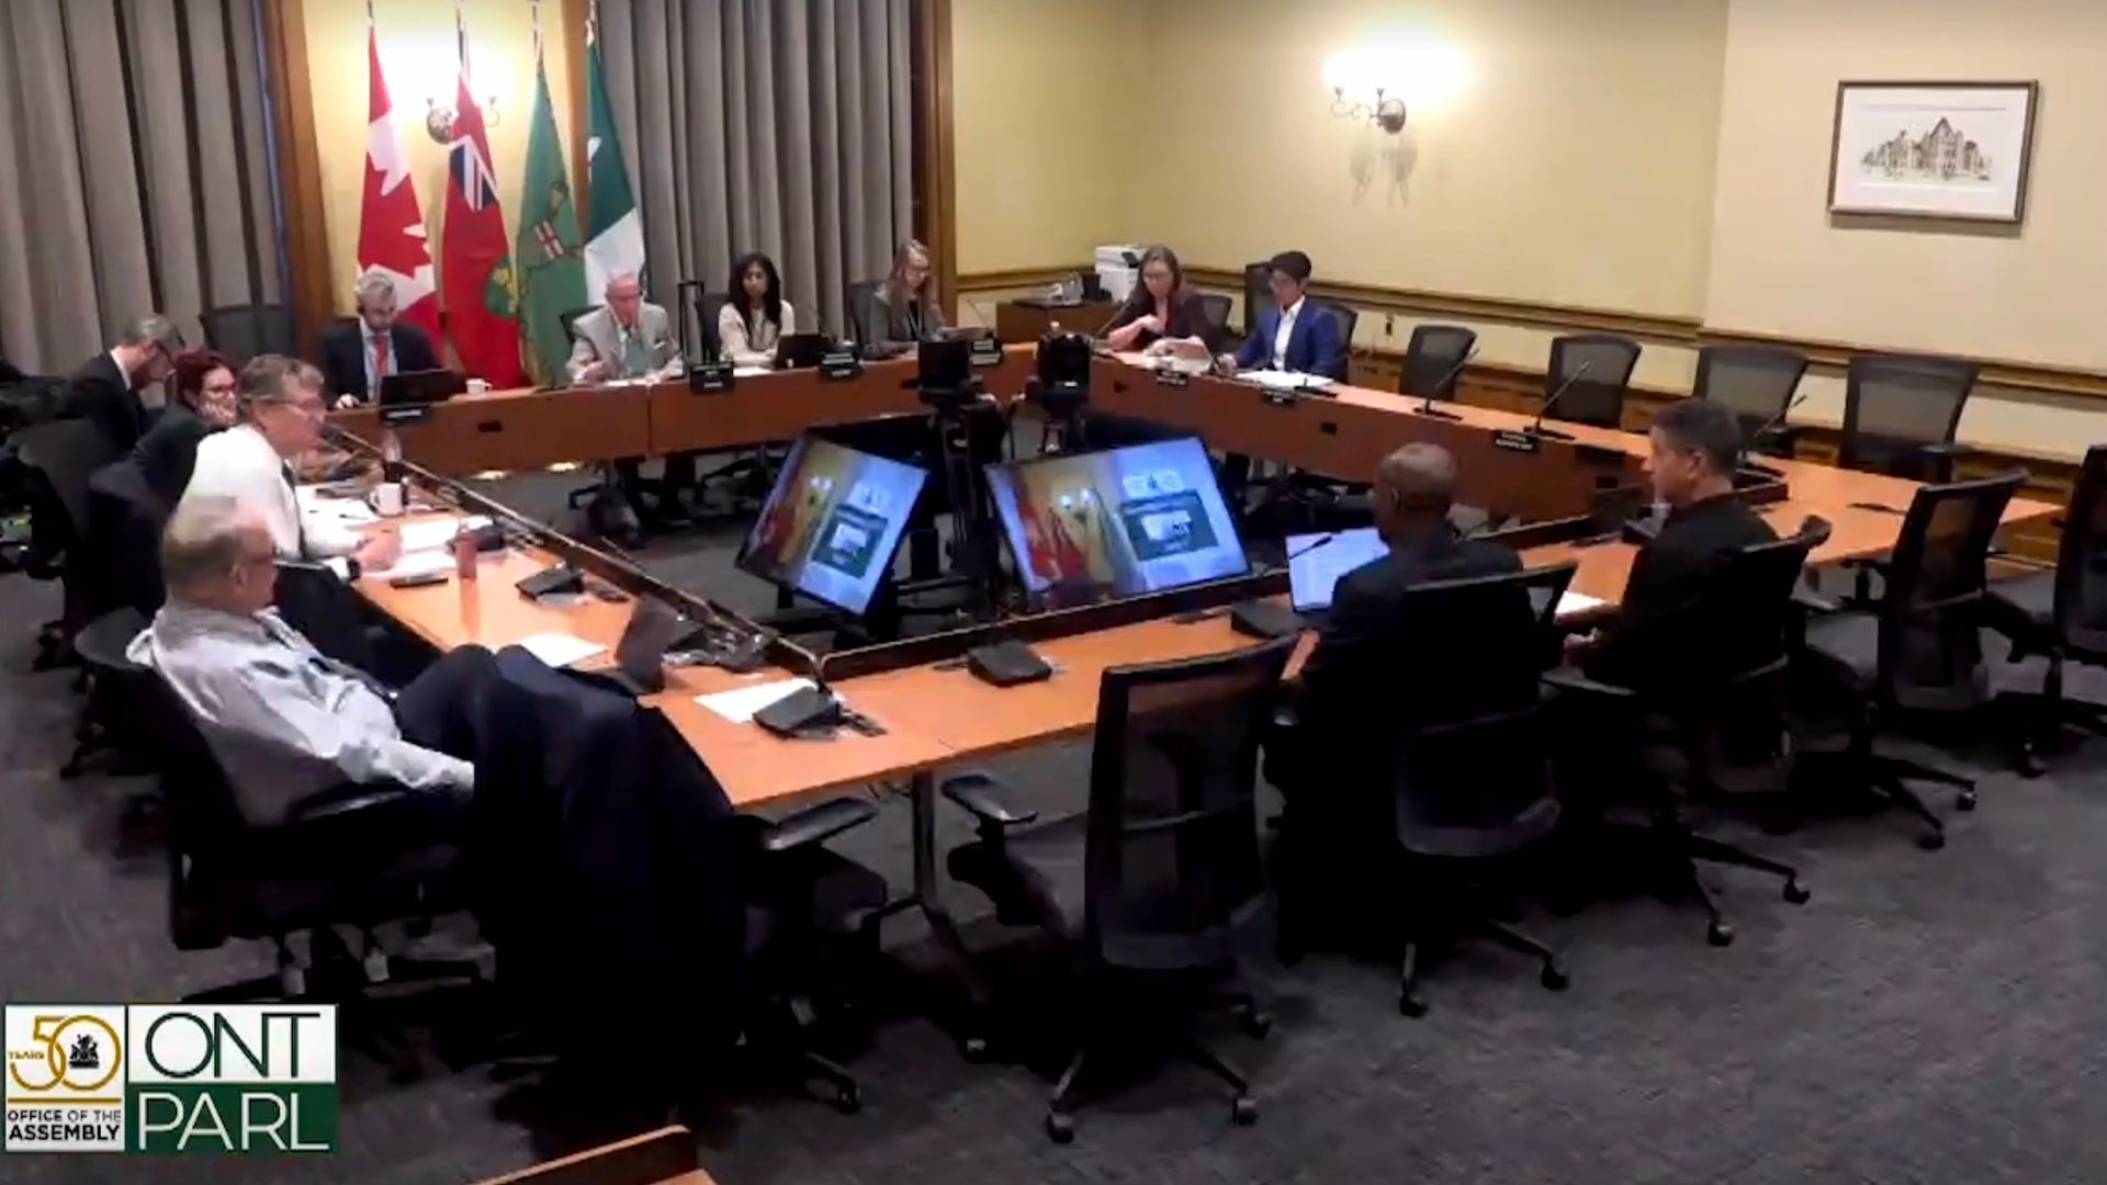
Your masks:
M242 367L236 403L240 420L198 443L198 464L183 487L183 504L225 498L263 514L280 559L346 557L360 569L383 569L402 555L394 527L371 536L329 521L303 521L293 491L293 460L322 443L322 373L299 358L259 354Z

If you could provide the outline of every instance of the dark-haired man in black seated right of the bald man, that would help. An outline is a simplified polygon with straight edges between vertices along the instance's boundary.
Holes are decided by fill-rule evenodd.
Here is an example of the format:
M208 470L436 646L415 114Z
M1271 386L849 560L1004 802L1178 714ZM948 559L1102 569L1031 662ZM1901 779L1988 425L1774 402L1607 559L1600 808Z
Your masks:
M1639 548L1616 620L1568 643L1568 658L1591 679L1641 694L1673 689L1717 649L1732 622L1707 620L1707 605L1715 603L1707 588L1732 552L1778 538L1734 496L1740 426L1728 409L1696 399L1671 403L1654 413L1650 436L1646 472L1669 519Z

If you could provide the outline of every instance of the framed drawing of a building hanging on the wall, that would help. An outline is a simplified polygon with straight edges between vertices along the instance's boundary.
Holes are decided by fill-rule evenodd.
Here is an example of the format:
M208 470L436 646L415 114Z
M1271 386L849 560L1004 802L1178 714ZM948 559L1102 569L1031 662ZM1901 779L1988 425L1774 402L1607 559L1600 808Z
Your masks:
M2037 82L1837 82L1829 211L2019 221Z

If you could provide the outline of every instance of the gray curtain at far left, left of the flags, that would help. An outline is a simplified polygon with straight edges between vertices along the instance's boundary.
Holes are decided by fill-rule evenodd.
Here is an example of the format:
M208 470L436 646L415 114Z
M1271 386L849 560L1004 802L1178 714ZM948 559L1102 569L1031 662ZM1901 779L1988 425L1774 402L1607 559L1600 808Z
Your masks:
M282 304L259 0L4 0L0 354L67 373L145 312Z

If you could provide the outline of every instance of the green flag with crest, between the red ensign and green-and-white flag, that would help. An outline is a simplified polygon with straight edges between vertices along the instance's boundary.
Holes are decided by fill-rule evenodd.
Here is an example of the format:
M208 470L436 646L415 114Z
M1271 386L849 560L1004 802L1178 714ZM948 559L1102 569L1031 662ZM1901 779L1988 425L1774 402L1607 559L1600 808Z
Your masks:
M527 129L527 183L520 188L520 234L512 257L520 276L520 329L527 337L527 373L539 384L565 382L571 339L563 314L586 304L586 257L579 251L577 205L563 169L556 108L548 99L548 72L535 59L533 127Z

